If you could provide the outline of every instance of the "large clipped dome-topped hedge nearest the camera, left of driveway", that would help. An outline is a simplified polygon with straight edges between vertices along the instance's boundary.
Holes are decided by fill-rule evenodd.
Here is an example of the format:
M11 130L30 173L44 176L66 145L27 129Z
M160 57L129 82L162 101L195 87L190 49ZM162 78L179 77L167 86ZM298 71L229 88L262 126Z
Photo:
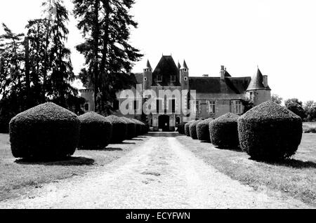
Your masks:
M11 119L11 151L15 158L38 161L72 156L79 142L76 114L54 103L40 104Z

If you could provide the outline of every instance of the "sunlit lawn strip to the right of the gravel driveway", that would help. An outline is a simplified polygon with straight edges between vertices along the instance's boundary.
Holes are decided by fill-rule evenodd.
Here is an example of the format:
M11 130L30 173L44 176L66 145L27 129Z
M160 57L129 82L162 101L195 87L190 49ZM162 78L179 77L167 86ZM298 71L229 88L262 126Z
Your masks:
M254 189L268 189L316 207L316 135L303 134L296 155L282 163L258 162L239 150L216 149L209 143L178 136L197 157L221 173Z

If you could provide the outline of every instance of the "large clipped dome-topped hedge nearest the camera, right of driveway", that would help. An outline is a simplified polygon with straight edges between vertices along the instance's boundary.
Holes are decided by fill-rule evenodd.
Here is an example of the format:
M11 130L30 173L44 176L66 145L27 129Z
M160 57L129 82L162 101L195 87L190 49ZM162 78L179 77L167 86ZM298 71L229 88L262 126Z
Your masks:
M238 130L242 150L253 159L265 161L293 156L303 133L301 118L271 101L241 116Z

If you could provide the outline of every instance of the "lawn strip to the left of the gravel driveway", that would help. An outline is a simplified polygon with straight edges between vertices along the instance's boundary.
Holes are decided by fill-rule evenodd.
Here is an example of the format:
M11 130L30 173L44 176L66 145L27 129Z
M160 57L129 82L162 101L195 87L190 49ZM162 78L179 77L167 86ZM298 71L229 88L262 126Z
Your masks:
M41 163L14 158L8 135L0 134L0 201L28 194L42 184L84 175L124 156L145 140L147 137L139 137L98 151L77 150L65 161Z

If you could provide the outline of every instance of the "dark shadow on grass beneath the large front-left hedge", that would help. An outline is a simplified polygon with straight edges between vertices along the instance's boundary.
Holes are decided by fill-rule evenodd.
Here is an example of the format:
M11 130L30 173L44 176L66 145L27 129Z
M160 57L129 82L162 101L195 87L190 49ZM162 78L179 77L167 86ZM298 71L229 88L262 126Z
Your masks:
M30 158L21 158L15 161L15 163L22 165L93 165L94 160L86 157L69 157L59 161L36 161Z

